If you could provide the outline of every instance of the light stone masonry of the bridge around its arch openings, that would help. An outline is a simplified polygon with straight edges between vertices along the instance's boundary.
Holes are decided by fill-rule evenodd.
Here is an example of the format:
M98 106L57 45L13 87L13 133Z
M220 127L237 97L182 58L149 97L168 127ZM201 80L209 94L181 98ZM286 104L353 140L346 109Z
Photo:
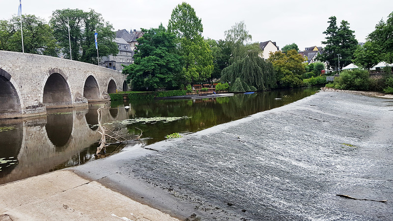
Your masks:
M0 68L7 72L21 100L22 117L46 113L43 106L44 86L53 73L58 73L67 82L73 107L87 105L83 97L84 83L92 75L98 83L101 100L108 100L108 84L116 83L122 90L123 75L109 68L58 57L0 51Z

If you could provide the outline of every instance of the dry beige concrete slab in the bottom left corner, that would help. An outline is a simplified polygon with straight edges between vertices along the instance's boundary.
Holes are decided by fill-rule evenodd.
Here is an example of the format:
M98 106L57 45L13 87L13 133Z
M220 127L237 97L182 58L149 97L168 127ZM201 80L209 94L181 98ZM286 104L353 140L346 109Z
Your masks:
M177 220L67 170L2 185L0 195L0 221Z

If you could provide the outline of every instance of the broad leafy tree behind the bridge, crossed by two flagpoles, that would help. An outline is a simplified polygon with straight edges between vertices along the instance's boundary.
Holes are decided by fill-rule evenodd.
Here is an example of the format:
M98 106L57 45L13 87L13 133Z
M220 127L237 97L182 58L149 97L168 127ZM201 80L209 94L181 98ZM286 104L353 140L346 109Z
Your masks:
M97 50L94 43L96 30L99 55L117 55L118 48L113 42L115 33L112 31L112 25L105 22L101 14L92 9L84 12L80 9L68 8L54 11L50 20L58 45L66 58L70 58L67 17L70 23L72 59L97 63Z

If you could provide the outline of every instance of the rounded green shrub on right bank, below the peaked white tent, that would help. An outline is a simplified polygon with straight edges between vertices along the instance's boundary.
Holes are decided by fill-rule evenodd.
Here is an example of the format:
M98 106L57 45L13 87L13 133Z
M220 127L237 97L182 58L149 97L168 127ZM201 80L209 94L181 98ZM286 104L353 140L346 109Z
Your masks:
M340 73L335 79L336 89L368 90L370 86L368 71L348 70Z

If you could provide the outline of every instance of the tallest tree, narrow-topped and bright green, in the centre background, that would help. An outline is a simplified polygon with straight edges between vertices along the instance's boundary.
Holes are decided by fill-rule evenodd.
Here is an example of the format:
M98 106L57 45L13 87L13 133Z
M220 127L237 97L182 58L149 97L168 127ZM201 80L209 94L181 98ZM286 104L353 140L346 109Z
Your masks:
M202 23L191 5L183 2L173 10L168 31L177 37L180 55L184 57L184 79L187 83L200 83L209 79L213 71L212 52L202 37Z

